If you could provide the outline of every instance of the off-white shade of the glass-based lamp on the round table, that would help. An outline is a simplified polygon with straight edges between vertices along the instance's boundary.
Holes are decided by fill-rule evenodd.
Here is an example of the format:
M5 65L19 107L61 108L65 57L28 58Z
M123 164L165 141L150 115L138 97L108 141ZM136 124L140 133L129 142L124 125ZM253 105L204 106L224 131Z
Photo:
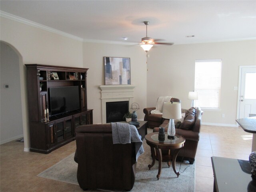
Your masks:
M164 102L162 117L165 119L180 119L181 118L180 102Z

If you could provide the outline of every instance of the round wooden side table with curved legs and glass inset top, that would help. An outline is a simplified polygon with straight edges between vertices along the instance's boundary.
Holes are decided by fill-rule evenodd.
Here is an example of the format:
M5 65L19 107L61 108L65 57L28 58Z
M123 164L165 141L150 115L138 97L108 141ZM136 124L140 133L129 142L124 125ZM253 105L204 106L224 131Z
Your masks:
M154 166L155 161L158 160L158 174L156 175L157 180L159 180L162 170L162 162L167 162L170 167L170 161L172 161L172 168L176 173L177 177L179 177L180 172L176 171L176 158L180 149L184 146L185 138L180 135L175 135L175 138L170 140L167 138L167 133L165 133L164 141L158 140L158 132L150 133L145 136L147 144L150 146L151 154L152 154L152 164L148 165L150 169ZM174 150L173 154L163 154L162 149L166 150Z

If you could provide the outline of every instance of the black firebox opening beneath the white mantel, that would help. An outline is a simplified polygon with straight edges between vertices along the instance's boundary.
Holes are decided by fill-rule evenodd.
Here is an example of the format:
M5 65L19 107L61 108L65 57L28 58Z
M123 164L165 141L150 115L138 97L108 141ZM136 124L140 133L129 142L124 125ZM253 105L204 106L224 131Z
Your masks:
M106 102L106 122L123 121L124 114L129 111L129 101Z

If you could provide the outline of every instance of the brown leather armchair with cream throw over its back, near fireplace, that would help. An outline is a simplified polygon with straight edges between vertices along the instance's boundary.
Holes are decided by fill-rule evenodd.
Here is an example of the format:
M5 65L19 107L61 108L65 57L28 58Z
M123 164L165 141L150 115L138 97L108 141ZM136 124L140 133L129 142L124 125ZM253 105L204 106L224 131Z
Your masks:
M180 102L180 100L177 98L171 98L170 101ZM155 109L156 109L155 107L149 107L149 108L143 109L143 112L145 114L144 121L148 122L149 128L159 127L164 120L161 114L151 114L151 111Z

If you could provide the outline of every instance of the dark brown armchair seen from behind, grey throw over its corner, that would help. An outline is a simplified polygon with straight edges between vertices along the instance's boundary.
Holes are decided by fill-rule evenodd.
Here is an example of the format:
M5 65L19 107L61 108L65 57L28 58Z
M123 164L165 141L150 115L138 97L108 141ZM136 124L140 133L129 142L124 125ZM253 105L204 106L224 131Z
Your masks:
M113 144L111 124L76 128L77 180L80 188L130 191L136 172L135 145Z

